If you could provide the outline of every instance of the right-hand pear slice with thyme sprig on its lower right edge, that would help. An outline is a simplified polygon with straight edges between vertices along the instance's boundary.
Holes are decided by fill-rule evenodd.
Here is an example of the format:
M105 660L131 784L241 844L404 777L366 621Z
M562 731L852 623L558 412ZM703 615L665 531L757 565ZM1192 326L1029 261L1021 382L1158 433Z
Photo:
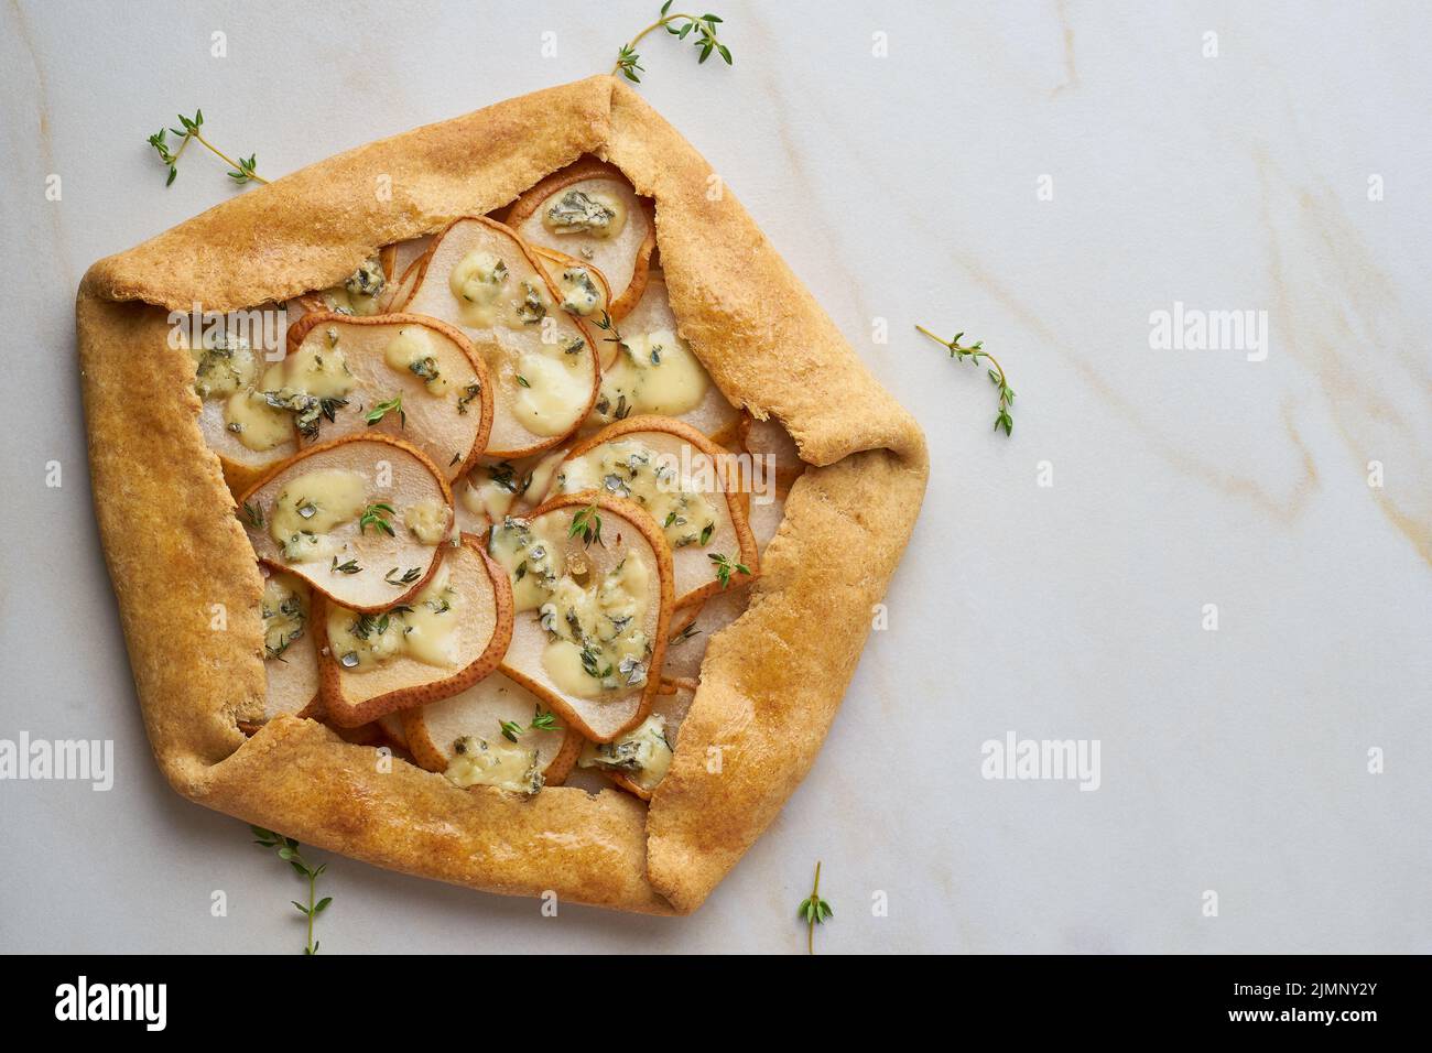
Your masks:
M672 547L676 606L723 589L715 556L758 572L732 458L672 417L629 417L583 440L557 466L551 494L603 491L640 504ZM749 577L735 572L727 586Z

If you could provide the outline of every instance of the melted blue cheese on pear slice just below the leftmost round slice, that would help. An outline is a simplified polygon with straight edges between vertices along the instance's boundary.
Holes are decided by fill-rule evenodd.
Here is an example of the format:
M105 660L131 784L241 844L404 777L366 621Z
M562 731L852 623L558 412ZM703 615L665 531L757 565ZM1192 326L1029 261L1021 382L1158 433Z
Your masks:
M460 653L461 609L467 599L450 580L447 564L412 600L381 615L328 607L328 650L348 670L372 669L400 655L432 666L454 666Z

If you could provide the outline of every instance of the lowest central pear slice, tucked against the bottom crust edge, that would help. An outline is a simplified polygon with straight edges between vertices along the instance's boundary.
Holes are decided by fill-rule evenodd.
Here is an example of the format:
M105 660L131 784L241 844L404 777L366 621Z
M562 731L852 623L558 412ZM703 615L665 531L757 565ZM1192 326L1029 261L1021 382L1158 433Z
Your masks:
M500 672L402 711L402 729L412 758L428 771L518 792L560 785L583 742L541 698Z

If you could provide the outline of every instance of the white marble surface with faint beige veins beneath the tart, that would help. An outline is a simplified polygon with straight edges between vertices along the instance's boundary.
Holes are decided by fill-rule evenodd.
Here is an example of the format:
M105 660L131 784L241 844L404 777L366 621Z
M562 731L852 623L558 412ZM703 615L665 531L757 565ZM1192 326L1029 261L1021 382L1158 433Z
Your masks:
M0 948L301 941L289 875L150 762L93 526L74 287L232 193L199 155L166 191L145 136L202 106L288 172L599 72L657 6L0 10L0 738L112 738L117 766L107 794L0 782ZM889 629L695 917L548 920L334 858L325 951L796 951L816 858L828 951L1432 950L1426 7L716 6L736 66L652 39L643 90L925 425ZM1266 361L1150 350L1174 301L1267 311ZM915 322L1001 357L1012 438ZM1008 731L1098 739L1100 789L982 779Z

